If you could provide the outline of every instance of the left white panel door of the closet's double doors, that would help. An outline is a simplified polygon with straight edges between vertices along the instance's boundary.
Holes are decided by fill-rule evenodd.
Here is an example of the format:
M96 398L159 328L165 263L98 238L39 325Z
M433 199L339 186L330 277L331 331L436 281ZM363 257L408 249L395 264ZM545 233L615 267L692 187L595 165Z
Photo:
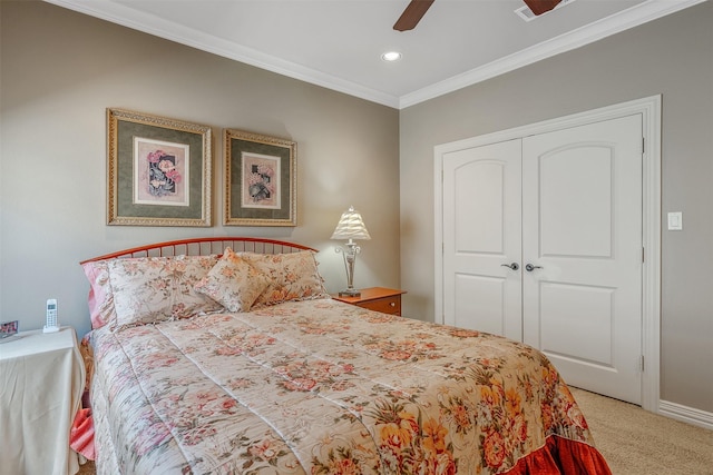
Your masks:
M443 323L522 338L521 141L443 158ZM509 266L509 267L508 267Z

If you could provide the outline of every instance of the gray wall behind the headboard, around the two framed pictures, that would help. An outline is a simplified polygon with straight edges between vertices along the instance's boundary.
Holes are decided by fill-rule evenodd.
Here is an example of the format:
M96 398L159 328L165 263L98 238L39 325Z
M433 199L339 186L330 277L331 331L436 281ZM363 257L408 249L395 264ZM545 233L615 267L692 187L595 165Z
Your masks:
M329 238L354 205L355 286L399 286L398 111L39 1L0 2L0 320L89 329L82 259L192 236L264 236L316 247L330 291L345 287ZM106 108L211 126L211 228L106 225ZM223 227L222 129L297 142L299 226ZM369 189L364 184L369 182Z

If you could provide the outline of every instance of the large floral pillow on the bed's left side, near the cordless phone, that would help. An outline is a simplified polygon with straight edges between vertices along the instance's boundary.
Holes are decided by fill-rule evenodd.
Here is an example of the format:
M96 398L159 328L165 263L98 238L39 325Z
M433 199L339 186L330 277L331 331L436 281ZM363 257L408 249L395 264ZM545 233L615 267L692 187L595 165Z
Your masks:
M223 307L193 289L217 256L136 257L107 263L114 328L187 318Z

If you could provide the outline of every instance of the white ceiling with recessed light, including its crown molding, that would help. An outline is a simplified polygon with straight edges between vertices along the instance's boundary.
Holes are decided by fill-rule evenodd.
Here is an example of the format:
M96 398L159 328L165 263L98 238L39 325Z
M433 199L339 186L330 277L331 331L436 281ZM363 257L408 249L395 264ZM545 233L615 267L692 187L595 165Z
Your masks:
M529 22L521 0L436 0L404 32L392 27L409 0L46 1L403 108L705 0L574 0Z

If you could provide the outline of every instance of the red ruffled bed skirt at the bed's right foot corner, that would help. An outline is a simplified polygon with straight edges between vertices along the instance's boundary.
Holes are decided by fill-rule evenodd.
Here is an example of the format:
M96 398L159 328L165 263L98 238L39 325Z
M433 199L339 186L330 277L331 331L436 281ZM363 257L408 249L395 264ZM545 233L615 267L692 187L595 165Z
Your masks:
M507 475L612 475L606 461L590 445L558 436L520 458Z

